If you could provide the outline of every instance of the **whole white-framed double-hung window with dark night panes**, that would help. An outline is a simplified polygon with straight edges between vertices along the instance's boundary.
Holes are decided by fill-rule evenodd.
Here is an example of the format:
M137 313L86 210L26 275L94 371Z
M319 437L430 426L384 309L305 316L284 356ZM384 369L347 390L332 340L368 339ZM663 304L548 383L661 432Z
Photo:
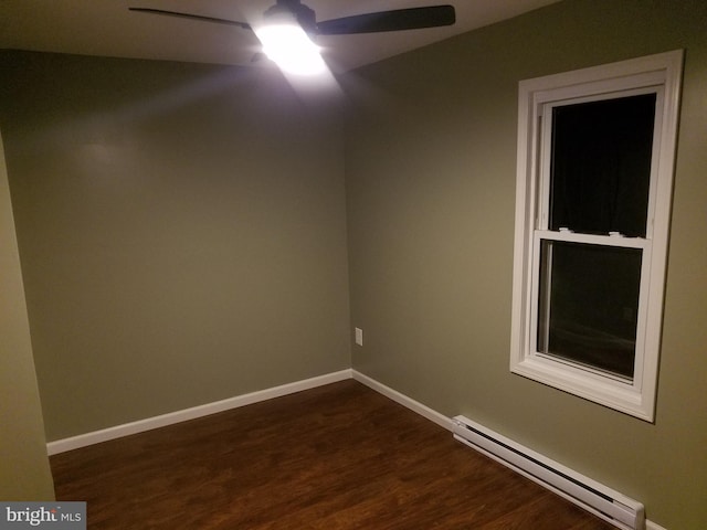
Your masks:
M510 370L653 421L682 51L519 85Z

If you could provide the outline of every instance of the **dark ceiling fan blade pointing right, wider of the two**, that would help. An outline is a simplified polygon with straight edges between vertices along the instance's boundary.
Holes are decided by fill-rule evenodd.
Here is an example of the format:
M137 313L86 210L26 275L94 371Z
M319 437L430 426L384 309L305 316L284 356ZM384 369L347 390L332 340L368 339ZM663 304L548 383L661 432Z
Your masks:
M455 21L456 13L453 6L430 6L325 20L317 22L317 29L320 35L348 35L437 28L452 25Z

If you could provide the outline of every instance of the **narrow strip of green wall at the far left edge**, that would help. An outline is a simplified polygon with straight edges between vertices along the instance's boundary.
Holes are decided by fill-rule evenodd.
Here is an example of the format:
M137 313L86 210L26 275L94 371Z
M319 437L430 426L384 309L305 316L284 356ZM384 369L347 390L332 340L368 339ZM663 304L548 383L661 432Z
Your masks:
M53 500L0 135L0 499Z

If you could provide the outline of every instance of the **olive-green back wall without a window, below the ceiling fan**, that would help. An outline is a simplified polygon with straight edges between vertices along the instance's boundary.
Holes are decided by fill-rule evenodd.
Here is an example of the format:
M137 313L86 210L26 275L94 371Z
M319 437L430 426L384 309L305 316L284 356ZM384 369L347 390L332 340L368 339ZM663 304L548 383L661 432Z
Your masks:
M272 68L0 60L49 441L350 367L331 102Z

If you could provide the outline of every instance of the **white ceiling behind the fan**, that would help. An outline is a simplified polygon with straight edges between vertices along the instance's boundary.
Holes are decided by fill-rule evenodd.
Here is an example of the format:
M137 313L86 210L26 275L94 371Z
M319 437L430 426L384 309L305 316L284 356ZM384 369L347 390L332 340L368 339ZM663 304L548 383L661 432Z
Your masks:
M437 3L456 8L447 28L320 38L335 72L441 41L559 0L304 0L328 20ZM251 63L258 43L235 26L128 11L144 7L240 21L253 20L274 0L0 0L0 49L33 50L199 63Z

